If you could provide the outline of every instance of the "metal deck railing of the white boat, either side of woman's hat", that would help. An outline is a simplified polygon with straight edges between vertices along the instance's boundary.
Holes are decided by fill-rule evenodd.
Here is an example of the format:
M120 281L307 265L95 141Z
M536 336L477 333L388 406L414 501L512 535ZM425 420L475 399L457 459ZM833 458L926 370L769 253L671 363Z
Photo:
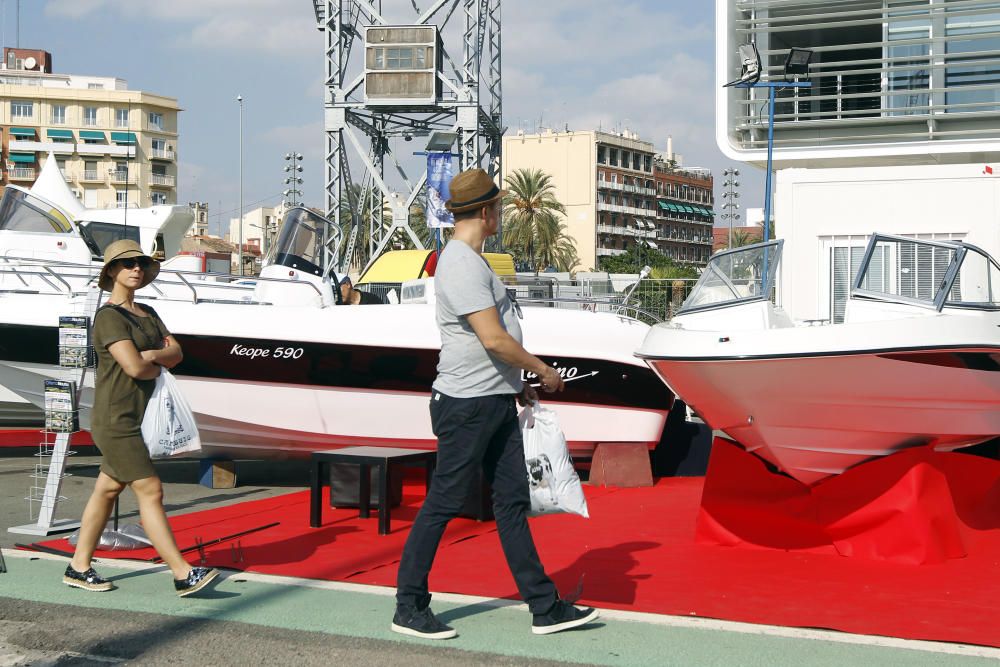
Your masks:
M42 282L47 284L55 293L58 294L74 294L72 282L76 282L80 289L77 292L85 292L87 286L97 280L99 271L95 265L88 264L77 264L73 262L60 262L60 261L47 261L40 260L37 258L29 257L11 257L4 256L0 257L0 275L14 275L16 276L24 287L30 287L30 284L26 278L37 277ZM164 280L170 276L175 276L176 281ZM236 276L229 273L214 273L208 271L182 271L179 269L161 269L156 280L149 284L149 288L156 292L158 299L163 299L164 301L187 301L190 300L193 303L211 303L223 301L216 298L203 298L199 296L199 290L202 292L207 291L231 291L233 294L243 292L252 293L252 285L246 284L234 284L233 282L220 282L220 281L240 281L240 280L251 280L246 276ZM289 278L261 278L259 276L254 276L252 278L254 283L257 282L267 282L267 283L280 283L280 284L290 284L299 286L302 288L311 289L316 293L317 296L322 299L323 293L320 291L319 287L315 284L303 280L293 280ZM186 292L190 294L190 299L179 299L165 291L164 288L167 285L182 285L186 288ZM0 286L0 292L17 291L24 292L24 290L9 290ZM232 299L224 300L226 303L260 303L251 299Z

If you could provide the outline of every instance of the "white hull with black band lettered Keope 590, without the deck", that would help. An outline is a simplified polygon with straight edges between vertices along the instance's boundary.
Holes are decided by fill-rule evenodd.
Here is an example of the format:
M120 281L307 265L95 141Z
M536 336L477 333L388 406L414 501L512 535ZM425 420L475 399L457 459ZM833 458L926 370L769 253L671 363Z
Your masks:
M43 380L71 376L56 365L52 313L74 311L53 303L46 312L37 302L5 299L0 384L41 406ZM20 317L18 303L25 309ZM436 446L428 411L439 345L432 307L153 305L183 346L174 375L208 455L284 458L360 444ZM631 354L648 327L606 314L524 310L526 340L537 341L535 351L566 380L564 392L542 400L558 413L573 454L589 455L601 443L655 446L673 397ZM92 383L88 373L83 428Z

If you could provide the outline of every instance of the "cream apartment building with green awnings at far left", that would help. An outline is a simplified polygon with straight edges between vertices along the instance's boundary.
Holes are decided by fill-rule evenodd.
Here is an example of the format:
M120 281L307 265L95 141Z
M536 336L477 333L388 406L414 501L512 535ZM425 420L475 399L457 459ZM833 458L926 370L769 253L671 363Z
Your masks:
M4 48L0 187L30 187L51 153L87 208L175 204L179 111L122 79L53 73L46 51Z

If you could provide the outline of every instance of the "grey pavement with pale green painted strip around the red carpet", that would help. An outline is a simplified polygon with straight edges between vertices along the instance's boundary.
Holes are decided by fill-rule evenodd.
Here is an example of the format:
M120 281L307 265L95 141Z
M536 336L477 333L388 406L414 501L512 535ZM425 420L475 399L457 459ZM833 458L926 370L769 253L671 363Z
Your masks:
M604 611L586 629L530 633L522 605L435 596L434 609L460 636L447 642L389 631L391 589L228 572L210 591L181 599L162 567L105 562L118 587L89 593L61 583L66 559L16 552L27 536L6 527L28 520L23 500L31 450L0 450L0 666L135 664L372 665L976 665L1000 650L707 619ZM57 517L79 515L97 474L96 457L71 459ZM195 462L157 464L168 511L180 514L305 488L304 462L243 463L235 489L197 484ZM123 521L136 520L126 492Z

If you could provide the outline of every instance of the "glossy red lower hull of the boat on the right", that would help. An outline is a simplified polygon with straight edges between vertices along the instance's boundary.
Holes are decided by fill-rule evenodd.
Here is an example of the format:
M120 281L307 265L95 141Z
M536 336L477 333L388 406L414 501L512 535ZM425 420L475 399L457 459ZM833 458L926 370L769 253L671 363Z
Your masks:
M647 362L713 428L806 484L1000 434L997 347Z

